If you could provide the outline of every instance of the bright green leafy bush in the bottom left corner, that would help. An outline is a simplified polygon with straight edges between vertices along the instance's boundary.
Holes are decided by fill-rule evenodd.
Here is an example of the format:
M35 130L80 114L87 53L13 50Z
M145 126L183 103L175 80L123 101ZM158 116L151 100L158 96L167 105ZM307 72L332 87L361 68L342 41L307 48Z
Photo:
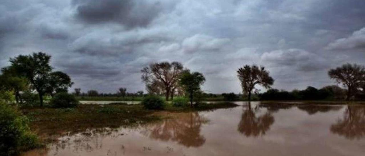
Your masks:
M28 119L13 106L0 101L0 155L17 155L39 145L38 137L30 131Z

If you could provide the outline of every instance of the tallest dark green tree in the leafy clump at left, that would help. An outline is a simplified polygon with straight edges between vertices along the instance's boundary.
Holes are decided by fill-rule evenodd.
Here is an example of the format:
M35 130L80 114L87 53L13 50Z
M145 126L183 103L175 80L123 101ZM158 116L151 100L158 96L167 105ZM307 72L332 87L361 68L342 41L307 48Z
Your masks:
M11 68L16 70L19 77L27 78L32 88L37 90L41 106L49 82L49 73L52 70L49 65L50 59L51 56L43 52L10 58Z

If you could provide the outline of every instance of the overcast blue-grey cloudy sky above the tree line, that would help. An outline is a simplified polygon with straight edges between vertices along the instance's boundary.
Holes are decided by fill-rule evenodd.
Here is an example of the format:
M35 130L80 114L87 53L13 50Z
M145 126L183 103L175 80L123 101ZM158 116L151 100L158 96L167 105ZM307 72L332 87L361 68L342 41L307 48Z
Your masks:
M265 66L273 88L335 85L327 72L365 65L364 0L1 0L0 67L52 56L73 88L145 90L140 70L178 61L207 93L242 92L237 69ZM260 89L260 88L259 88Z

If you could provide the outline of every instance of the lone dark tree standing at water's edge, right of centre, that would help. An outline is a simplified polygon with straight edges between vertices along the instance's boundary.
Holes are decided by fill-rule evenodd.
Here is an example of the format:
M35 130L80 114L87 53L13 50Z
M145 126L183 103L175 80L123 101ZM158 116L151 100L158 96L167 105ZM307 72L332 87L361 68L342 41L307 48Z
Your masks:
M243 93L248 95L249 101L251 101L251 92L255 85L270 88L274 83L274 79L269 76L269 72L265 70L265 67L259 68L256 65L245 65L243 68L239 68L237 76L239 81L241 81Z

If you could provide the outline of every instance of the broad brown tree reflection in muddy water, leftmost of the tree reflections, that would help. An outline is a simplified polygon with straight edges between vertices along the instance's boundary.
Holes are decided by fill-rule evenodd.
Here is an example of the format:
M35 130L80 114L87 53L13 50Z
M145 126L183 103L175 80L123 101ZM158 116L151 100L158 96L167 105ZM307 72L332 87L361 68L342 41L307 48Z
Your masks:
M200 134L201 125L208 120L197 112L179 113L177 117L152 125L148 133L152 139L176 141L185 147L200 147L205 138Z

